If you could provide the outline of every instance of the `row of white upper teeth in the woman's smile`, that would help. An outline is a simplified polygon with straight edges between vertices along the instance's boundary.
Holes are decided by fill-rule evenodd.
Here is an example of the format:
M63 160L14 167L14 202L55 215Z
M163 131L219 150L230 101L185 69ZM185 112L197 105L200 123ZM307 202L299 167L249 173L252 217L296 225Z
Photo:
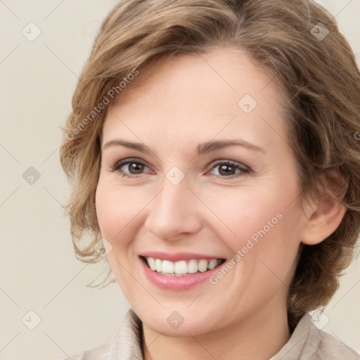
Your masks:
M204 273L207 270L215 269L221 264L221 259L205 260L181 260L179 262L170 262L169 260L154 259L153 257L146 257L146 262L151 270L162 275L168 276L184 276L188 274L195 274L198 271Z

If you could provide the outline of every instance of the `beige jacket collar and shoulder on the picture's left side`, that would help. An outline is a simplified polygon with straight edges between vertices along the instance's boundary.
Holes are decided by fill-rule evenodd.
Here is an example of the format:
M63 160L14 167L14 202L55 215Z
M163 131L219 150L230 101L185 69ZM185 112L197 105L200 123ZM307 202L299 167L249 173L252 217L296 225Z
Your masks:
M103 345L86 349L59 360L110 360L110 359L143 359L141 345L141 320L132 309L127 311L124 319L115 331L111 340Z

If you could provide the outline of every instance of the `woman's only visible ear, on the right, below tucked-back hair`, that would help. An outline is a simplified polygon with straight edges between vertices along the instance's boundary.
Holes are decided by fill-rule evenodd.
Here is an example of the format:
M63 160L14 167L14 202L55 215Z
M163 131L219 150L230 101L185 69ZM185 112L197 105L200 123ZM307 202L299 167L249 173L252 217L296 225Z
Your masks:
M306 220L302 231L302 243L316 245L330 236L344 218L346 208L325 189L319 191L316 199L305 200L307 203Z

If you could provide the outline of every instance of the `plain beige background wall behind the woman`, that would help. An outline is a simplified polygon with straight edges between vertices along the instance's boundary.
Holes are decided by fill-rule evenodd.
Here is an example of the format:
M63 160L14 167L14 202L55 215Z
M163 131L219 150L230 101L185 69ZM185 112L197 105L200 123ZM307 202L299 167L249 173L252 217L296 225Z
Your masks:
M0 1L2 360L58 359L101 345L129 308L117 284L86 288L102 266L75 259L61 207L69 186L58 156L59 126L70 113L77 75L101 20L115 3ZM360 0L321 3L336 15L359 59ZM22 33L30 22L41 30L34 41ZM32 27L32 35L35 31ZM23 179L29 167L40 175L34 184ZM34 170L28 171L31 176ZM342 278L340 291L319 322L358 351L359 270L358 261ZM28 314L30 310L37 315ZM37 316L41 322L30 330L27 326L34 325Z

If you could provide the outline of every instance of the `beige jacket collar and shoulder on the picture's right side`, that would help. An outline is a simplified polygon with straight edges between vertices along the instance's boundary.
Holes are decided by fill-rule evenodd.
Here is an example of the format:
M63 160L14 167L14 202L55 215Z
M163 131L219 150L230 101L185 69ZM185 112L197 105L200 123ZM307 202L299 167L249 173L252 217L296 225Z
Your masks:
M270 360L360 360L360 354L335 336L319 330L305 314L290 340Z

